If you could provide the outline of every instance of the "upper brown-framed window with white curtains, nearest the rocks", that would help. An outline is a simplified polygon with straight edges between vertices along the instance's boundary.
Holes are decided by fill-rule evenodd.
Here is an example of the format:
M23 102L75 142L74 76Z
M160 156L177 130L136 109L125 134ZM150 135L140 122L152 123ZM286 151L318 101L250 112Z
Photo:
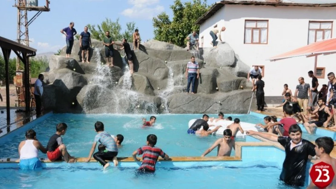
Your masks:
M246 44L268 43L268 20L245 20Z

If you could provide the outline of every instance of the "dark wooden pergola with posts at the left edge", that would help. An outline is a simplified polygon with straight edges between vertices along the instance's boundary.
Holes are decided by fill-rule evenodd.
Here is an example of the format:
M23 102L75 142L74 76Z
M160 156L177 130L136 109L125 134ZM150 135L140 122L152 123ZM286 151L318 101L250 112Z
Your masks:
M3 38L0 36L0 47L2 49L3 57L5 59L5 77L6 77L6 109L7 109L7 124L10 124L10 104L9 104L9 56L13 51L25 65L25 104L26 112L30 109L30 81L29 81L29 57L36 55L36 49L26 45L17 43L15 41ZM22 53L22 56L20 55Z

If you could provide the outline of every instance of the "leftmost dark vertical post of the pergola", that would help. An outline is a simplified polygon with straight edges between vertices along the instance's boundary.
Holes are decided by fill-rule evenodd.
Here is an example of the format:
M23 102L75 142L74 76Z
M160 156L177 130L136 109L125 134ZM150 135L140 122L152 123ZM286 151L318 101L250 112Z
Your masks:
M1 48L3 57L5 59L5 78L6 78L6 111L7 111L7 125L10 124L10 103L9 103L9 56L10 49Z

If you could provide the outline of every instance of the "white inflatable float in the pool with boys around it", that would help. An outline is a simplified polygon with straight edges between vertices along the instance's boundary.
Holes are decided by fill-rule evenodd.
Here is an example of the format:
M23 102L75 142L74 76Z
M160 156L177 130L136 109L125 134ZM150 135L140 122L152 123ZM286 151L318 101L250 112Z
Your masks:
M190 128L194 122L196 121L196 119L193 119L193 120L190 120L189 123L188 123L188 128ZM213 122L210 122L210 120L208 121L208 124L209 125L214 125L214 126L211 126L209 127L210 130L213 130L215 129L217 126L222 126L221 128L219 128L217 131L213 132L214 135L220 135L220 136L223 136L223 132L225 129L227 129L226 127L230 124L232 124L233 121L228 121L228 120L219 120L219 121L213 121ZM242 134L239 130L236 134L236 136L245 136L246 135L246 131L256 131L256 132L260 132L261 130L257 129L257 127L255 127L256 124L251 124L251 123L246 123L246 122L240 122L240 126L242 127L242 129L244 130L244 134ZM201 127L203 128L203 127ZM259 128L259 127L258 127Z

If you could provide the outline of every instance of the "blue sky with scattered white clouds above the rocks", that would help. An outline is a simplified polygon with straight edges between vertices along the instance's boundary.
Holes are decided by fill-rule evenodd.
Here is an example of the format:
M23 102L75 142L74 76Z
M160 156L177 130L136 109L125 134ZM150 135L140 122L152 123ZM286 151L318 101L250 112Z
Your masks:
M27 0L29 1L29 0ZM78 33L89 24L99 24L105 18L115 21L119 17L122 31L126 22L135 22L135 27L143 41L153 39L152 18L165 11L172 17L169 8L173 0L49 0L50 12L42 12L29 26L30 46L37 49L37 54L57 52L66 45L65 36L60 30L75 22ZM191 0L182 0L182 2ZM218 0L217 0L218 1ZM45 5L45 0L38 0L39 6ZM216 0L208 0L212 4ZM16 41L17 9L13 7L15 0L0 0L0 17L2 29L0 36ZM28 12L28 20L37 11ZM201 16L201 15L200 15Z

